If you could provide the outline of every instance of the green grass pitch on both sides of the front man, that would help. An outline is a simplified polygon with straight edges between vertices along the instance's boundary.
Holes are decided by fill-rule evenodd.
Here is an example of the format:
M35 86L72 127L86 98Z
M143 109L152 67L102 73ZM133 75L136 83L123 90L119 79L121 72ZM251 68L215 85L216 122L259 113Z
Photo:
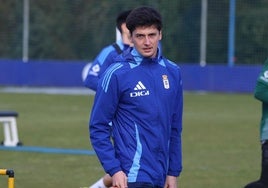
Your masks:
M25 146L89 149L93 96L0 93L0 110L15 110ZM238 188L260 173L261 104L252 94L184 94L180 188ZM3 128L0 127L0 140ZM0 150L0 168L18 188L89 187L103 174L96 155ZM0 187L7 187L0 176Z

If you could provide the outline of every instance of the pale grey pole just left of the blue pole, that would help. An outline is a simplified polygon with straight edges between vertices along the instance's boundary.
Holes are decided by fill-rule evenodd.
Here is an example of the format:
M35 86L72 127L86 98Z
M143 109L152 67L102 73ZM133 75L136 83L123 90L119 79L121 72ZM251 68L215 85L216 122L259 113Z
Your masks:
M200 33L200 66L206 66L207 48L207 0L202 0L201 33Z

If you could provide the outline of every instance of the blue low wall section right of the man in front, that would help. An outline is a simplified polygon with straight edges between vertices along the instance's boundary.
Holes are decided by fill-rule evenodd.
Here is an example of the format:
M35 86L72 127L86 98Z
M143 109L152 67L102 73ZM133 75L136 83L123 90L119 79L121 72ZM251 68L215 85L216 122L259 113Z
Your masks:
M253 92L261 66L182 65L185 90Z

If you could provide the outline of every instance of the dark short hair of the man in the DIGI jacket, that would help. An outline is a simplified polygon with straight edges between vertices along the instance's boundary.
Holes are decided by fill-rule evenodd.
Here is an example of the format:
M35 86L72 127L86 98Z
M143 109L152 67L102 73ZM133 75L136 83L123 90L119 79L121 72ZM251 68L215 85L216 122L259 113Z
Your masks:
M152 25L161 31L162 17L156 9L147 6L135 8L126 20L126 26L131 34L137 27Z

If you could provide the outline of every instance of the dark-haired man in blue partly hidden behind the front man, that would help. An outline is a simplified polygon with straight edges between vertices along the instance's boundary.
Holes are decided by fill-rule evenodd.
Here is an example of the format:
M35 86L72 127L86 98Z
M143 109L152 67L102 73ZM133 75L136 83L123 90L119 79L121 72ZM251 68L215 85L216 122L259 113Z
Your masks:
M121 40L106 46L98 54L88 71L88 75L84 81L85 87L94 91L97 89L98 81L105 70L114 63L115 57L126 50L131 44L130 33L126 27L126 19L131 10L121 12L116 18L116 28L121 34Z

